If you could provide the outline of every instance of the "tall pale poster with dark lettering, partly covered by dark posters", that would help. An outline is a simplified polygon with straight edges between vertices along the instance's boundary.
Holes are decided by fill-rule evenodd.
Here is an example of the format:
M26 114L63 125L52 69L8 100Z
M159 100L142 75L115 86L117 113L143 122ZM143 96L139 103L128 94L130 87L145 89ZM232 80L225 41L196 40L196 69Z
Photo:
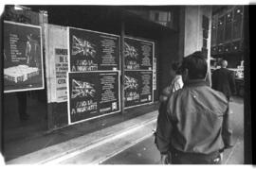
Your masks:
M65 102L68 71L67 30L65 26L46 24L45 31L47 100L48 103Z

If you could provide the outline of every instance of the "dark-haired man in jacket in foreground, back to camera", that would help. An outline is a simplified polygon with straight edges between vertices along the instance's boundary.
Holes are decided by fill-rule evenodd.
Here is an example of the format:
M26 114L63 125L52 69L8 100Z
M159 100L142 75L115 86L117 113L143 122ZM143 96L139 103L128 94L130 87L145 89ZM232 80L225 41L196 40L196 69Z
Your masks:
M161 163L220 164L222 152L232 146L228 99L207 85L208 66L201 52L183 59L181 67L184 86L157 119Z

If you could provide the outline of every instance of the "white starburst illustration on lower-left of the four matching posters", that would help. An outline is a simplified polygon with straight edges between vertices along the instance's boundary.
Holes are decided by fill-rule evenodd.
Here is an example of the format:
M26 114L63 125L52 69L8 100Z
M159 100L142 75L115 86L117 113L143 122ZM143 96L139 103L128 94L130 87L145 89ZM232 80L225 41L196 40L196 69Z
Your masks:
M76 98L77 96L84 97L89 95L91 97L94 97L96 90L93 86L94 85L91 83L72 79L71 98Z

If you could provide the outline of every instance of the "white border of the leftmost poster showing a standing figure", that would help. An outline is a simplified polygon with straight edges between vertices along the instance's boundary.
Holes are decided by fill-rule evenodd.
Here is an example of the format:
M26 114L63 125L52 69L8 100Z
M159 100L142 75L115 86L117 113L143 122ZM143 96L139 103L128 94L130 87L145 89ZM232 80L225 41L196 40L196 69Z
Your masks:
M26 92L26 91L35 91L35 90L44 90L45 89L45 68L44 68L44 59L43 59L43 32L42 32L42 26L41 25L29 25L29 24L22 24L22 23L15 23L15 22L11 22L11 21L5 21L4 20L4 26L5 24L12 24L12 25L23 25L23 26L27 26L27 27L35 27L35 28L39 28L40 30L40 42L41 42L41 72L42 72L42 87L39 88L28 88L28 89L18 89L18 90L8 90L5 91L5 85L4 85L4 93L15 93L15 92ZM3 28L4 29L4 28ZM3 77L4 78L4 77Z

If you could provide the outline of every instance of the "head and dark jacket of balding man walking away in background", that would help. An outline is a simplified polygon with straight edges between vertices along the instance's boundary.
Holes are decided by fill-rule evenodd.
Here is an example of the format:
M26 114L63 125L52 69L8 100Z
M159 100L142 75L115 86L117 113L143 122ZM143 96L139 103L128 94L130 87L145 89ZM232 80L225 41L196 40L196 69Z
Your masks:
M211 75L212 89L224 93L228 100L230 96L236 93L234 73L227 69L228 61L221 61L221 68L215 70Z

